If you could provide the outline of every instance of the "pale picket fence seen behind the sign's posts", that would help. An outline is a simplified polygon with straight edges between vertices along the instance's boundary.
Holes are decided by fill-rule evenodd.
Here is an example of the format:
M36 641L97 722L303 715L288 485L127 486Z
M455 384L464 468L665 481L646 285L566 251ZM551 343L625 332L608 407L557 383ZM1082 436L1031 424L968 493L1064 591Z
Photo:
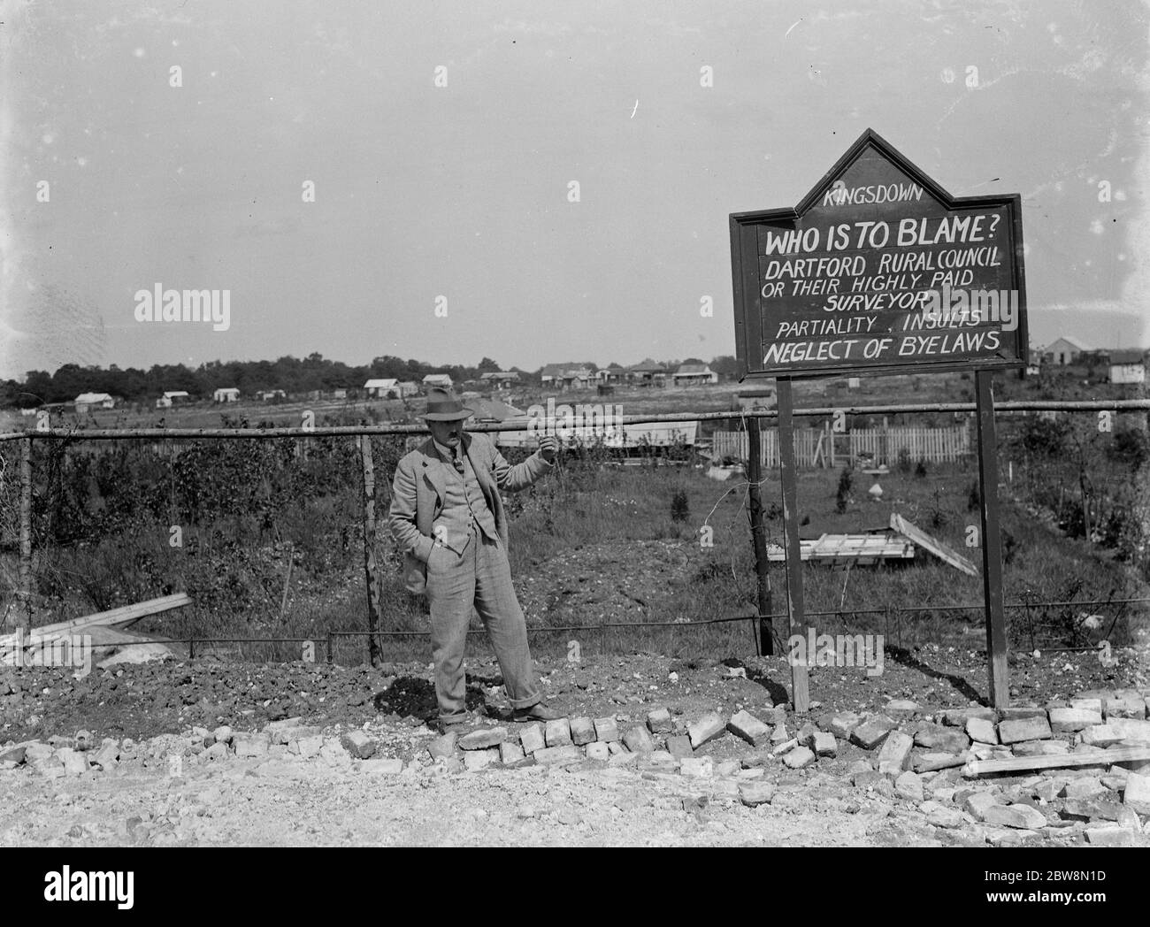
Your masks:
M714 455L746 460L745 431L715 431ZM765 467L779 466L779 429L764 428L760 442ZM903 451L905 450L905 454ZM894 467L899 459L917 463L957 463L974 451L971 432L964 426L954 428L856 428L835 434L829 426L795 429L795 460L799 467L836 467L867 457L875 465Z

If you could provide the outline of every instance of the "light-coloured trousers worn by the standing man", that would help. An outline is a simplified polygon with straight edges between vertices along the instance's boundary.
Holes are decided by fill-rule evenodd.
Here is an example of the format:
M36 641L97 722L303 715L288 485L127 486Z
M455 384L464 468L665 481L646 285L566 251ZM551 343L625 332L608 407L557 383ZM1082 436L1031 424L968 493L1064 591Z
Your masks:
M488 629L511 704L526 708L539 702L538 676L527 646L527 621L515 597L503 544L473 533L462 556L437 545L428 560L427 597L442 721L451 723L466 717L463 646L473 606Z

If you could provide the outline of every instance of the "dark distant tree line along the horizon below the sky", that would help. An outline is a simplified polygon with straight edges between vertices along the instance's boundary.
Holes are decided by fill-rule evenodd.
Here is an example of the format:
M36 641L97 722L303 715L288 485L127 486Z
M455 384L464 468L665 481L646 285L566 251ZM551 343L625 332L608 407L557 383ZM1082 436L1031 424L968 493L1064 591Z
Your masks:
M721 376L734 371L734 358L715 358L712 369ZM236 386L244 397L252 397L261 390L283 390L288 394L308 393L315 390L358 390L368 380L408 380L419 383L428 374L447 374L458 384L478 380L481 374L500 370L491 358L483 358L475 367L457 363L435 365L421 360L404 360L385 354L373 359L369 365L351 367L342 361L329 360L322 354L308 354L300 360L291 355L278 360L209 361L192 369L183 363L154 365L147 370L135 367L120 369L112 365L80 367L66 363L55 373L29 370L23 382L0 381L0 404L18 408L32 408L47 403L70 403L84 392L106 392L126 401L153 401L164 392L186 390L193 398L210 398L223 386ZM534 376L538 383L542 371L534 374L516 370L521 378L530 383Z

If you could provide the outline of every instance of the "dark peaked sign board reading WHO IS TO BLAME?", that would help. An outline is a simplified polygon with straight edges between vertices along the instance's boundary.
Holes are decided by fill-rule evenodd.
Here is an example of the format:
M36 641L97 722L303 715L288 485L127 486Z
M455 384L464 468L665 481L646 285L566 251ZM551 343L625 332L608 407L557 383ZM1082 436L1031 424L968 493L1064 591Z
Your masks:
M741 377L1027 362L1021 198L953 198L869 129L730 246Z

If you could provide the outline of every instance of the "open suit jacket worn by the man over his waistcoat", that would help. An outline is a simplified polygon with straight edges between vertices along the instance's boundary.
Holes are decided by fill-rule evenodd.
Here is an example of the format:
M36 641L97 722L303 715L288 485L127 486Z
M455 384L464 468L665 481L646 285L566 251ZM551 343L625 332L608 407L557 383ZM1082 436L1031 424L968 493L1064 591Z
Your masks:
M515 492L524 489L550 473L554 465L534 453L513 467L504 460L494 443L482 434L469 435L465 431L462 442L463 453L471 461L483 499L494 516L499 538L506 549L507 516L499 490ZM427 562L435 547L431 526L443 511L446 497L443 466L435 444L428 438L400 459L391 487L388 527L404 552L404 585L416 595L427 588Z

